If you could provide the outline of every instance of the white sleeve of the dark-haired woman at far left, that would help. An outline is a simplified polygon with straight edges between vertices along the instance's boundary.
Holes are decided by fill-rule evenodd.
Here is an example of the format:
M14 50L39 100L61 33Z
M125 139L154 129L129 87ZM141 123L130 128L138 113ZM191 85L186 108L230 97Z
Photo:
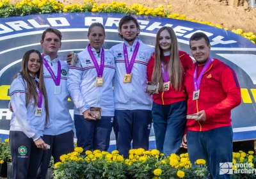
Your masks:
M13 81L10 87L10 96L13 113L17 118L17 122L20 128L26 136L36 141L40 138L38 130L31 124L31 120L28 119L28 110L26 107L26 89L24 83L19 79Z

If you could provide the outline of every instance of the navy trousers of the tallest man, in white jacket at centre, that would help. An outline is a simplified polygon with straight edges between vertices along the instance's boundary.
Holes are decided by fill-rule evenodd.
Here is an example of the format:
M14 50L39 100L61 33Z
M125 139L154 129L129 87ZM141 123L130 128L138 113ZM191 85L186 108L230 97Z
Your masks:
M115 110L116 125L118 125L117 148L125 158L132 148L148 150L148 137L152 123L150 110Z

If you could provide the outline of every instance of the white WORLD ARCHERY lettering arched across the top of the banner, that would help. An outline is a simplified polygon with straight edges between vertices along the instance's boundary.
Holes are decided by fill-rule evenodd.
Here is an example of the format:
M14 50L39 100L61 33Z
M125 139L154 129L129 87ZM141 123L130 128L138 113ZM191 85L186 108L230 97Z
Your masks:
M90 26L93 22L100 22L101 24L103 24L106 27L112 27L114 29L117 29L118 24L120 22L121 18L113 18L113 17L108 17L108 19L106 20L106 23L104 24L104 20L102 17L84 17L84 26ZM42 28L42 27L60 27L60 26L70 26L70 23L68 22L68 20L65 17L54 17L54 18L47 18L49 23L46 24L42 24L44 23L46 20L42 19L42 21L40 20L40 22L38 22L38 19L28 19L28 23L31 24L31 26L29 26L29 24L27 24L26 22L22 21L22 20L18 20L18 21L12 21L12 22L5 22L6 24L8 24L8 26L12 27L8 27L8 26L4 26L3 24L0 24L0 35L1 34L5 34L5 33L10 33L13 31L13 29L15 31L22 31L24 29L33 29L35 28ZM47 22L47 21L46 21ZM150 26L148 26L149 21L148 20L140 20L138 19L138 22L141 25L141 29L144 29L144 32L147 33L147 31L154 31L156 29L159 29L163 26L168 26L168 27L173 27L173 24L165 24L163 26L160 26L162 24L162 22L153 22ZM213 27L211 27L213 28ZM177 26L175 25L173 27L173 30L175 31L177 36L182 36L184 38L190 38L194 33L196 32L203 32L205 33L207 36L213 36L212 33L209 33L207 31L200 31L198 29L193 29L191 27L184 27L184 26ZM191 32L192 31L192 32ZM230 44L230 43L236 43L235 40L223 40L224 36L215 36L214 38L212 38L212 42L211 45L217 45L217 44Z

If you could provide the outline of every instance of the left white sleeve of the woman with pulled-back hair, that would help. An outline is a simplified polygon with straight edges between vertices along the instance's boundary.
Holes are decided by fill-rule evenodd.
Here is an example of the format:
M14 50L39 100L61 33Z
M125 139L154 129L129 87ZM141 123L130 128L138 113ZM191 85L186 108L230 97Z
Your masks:
M67 88L74 102L76 108L83 113L87 109L90 108L83 99L83 95L80 91L80 84L83 77L83 68L79 59L77 59L77 63L75 66L69 67L68 72L68 81L67 81Z

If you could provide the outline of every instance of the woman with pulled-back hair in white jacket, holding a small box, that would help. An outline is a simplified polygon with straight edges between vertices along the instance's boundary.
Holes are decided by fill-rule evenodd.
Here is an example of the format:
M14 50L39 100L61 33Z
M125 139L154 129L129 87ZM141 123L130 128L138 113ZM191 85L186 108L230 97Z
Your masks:
M102 24L95 22L89 27L88 40L90 43L78 54L76 65L70 66L67 81L75 105L77 146L84 151L107 151L115 114L112 84L115 61L102 48L105 40ZM97 114L92 107L97 107Z

